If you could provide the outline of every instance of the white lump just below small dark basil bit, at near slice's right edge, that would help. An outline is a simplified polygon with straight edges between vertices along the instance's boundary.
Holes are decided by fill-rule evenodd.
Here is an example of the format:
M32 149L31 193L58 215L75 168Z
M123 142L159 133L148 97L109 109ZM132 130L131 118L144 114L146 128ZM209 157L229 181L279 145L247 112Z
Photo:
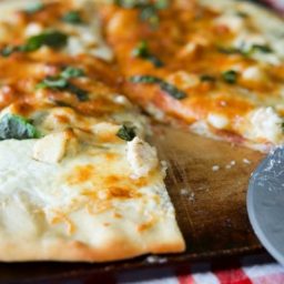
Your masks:
M156 150L140 138L128 142L128 161L133 172L133 178L146 176L158 166Z

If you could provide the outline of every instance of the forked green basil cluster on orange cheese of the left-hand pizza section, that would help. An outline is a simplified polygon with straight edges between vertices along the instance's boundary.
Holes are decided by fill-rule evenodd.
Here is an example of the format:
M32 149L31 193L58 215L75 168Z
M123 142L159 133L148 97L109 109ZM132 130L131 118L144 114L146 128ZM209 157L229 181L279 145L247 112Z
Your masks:
M84 77L82 69L67 67L59 75L44 78L37 88L67 91L74 94L79 101L84 102L89 100L88 92L69 82L69 79L79 77Z

